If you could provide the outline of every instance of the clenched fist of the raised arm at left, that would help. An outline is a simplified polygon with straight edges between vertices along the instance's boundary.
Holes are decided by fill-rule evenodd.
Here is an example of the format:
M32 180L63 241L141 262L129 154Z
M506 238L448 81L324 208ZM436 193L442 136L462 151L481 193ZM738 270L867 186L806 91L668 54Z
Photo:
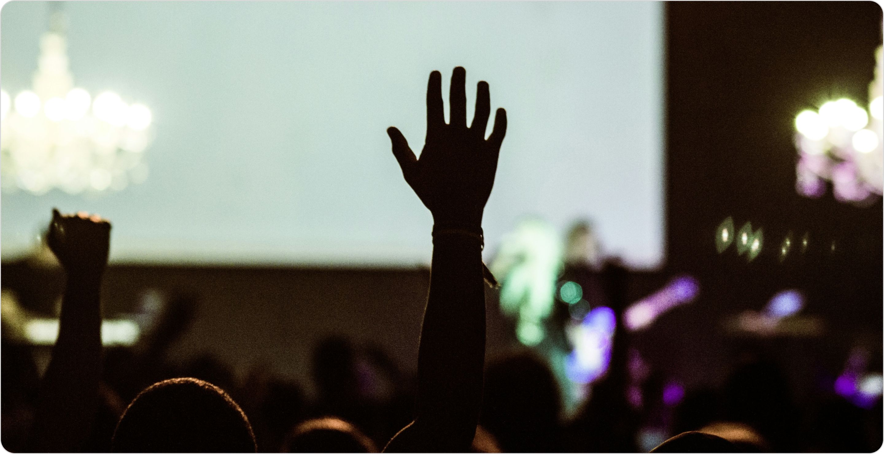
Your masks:
M68 275L100 276L108 262L110 223L84 211L62 215L53 209L47 244Z

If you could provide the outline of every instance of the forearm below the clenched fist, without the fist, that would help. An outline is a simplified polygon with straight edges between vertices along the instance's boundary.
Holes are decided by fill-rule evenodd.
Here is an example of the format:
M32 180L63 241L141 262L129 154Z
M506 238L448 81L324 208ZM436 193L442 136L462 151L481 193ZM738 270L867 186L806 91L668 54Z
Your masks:
M31 436L35 451L78 450L95 413L101 375L100 275L68 276L52 359Z

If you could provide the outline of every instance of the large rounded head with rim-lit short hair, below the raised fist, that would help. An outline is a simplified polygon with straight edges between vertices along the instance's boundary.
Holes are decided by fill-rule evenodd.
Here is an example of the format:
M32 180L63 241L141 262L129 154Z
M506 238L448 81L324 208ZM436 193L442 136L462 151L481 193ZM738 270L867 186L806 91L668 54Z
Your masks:
M155 383L117 424L115 452L255 452L245 413L223 390L195 378Z

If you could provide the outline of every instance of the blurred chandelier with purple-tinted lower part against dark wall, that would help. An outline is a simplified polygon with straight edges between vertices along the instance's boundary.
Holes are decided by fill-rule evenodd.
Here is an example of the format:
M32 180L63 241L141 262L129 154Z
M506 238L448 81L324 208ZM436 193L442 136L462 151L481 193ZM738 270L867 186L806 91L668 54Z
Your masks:
M865 206L880 198L884 189L881 53L879 47L875 79L869 84L868 113L842 98L824 103L819 111L804 110L795 118L798 193L819 197L826 193L828 180L838 201Z

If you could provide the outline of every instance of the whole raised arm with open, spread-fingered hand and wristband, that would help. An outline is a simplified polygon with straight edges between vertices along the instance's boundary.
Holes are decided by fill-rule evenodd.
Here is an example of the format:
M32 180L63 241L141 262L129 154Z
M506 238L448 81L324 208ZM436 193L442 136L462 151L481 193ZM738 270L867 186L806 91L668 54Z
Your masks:
M464 452L476 433L485 351L482 214L494 185L507 113L497 111L485 140L491 107L488 84L479 82L476 114L468 127L465 79L464 69L454 68L446 125L442 75L431 72L420 159L398 129L387 130L402 175L430 209L434 225L430 295L417 358L416 418L385 451Z

